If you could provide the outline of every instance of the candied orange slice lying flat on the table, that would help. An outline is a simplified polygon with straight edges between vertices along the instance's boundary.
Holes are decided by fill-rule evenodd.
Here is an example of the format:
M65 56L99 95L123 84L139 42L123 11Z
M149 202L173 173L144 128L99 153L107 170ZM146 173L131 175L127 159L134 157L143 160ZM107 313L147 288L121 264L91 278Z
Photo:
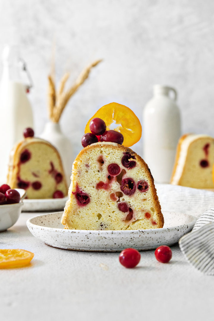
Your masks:
M34 254L26 250L0 249L0 269L21 267L32 260Z

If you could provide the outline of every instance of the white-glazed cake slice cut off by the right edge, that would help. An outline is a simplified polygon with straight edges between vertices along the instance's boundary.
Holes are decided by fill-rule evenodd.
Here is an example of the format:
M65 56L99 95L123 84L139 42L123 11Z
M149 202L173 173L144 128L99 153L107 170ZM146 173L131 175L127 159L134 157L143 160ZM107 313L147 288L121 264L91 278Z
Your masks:
M203 134L185 134L178 142L171 184L214 188L213 163L214 138Z

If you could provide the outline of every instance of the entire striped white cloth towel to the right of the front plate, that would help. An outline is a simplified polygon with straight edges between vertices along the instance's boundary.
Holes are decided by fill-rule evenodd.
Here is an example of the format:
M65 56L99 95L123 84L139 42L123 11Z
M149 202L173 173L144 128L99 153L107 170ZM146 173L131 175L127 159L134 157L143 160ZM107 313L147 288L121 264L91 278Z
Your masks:
M198 219L193 231L179 240L179 246L194 267L214 275L214 192L171 184L155 187L163 211L186 213Z

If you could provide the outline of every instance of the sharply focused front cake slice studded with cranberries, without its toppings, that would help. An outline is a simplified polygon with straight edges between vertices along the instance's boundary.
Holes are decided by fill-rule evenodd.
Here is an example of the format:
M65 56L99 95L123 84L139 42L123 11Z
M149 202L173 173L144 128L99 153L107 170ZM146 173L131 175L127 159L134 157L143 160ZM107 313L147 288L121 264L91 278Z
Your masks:
M73 163L67 229L139 230L164 224L154 180L142 158L117 143L93 143Z

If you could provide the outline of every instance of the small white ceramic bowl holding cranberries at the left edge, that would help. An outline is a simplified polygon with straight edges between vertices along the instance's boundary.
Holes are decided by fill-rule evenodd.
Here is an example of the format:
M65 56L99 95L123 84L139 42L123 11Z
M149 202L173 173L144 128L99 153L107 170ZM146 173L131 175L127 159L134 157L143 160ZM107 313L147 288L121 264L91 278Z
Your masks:
M21 200L26 196L24 189L16 188L19 192ZM4 204L0 205L0 232L3 232L9 227L13 226L18 220L21 213L21 207L23 202L14 203L14 204Z

